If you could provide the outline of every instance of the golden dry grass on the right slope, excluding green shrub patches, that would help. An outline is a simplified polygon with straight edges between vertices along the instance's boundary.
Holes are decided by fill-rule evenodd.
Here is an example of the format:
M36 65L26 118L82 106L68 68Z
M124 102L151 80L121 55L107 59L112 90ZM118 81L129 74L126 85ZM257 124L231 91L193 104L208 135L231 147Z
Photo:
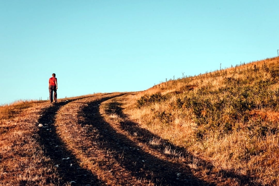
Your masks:
M129 104L124 110L126 115L139 123L140 127L145 128L154 134L170 141L175 145L184 147L193 155L211 162L214 165L214 171L229 171L235 175L251 178L250 184L259 185L276 185L279 184L279 169L278 169L278 150L279 138L278 133L268 133L266 136L251 136L251 130L263 130L262 126L268 126L273 130L279 130L279 112L272 110L272 107L263 107L262 109L253 109L250 111L249 123L242 123L237 121L233 124L232 132L222 134L222 131L206 131L206 128L197 126L193 110L179 109L175 107L177 98L183 98L185 95L195 95L202 87L209 87L210 91L218 91L219 88L225 88L225 80L233 77L235 79L245 81L247 76L255 80L269 80L271 79L271 72L262 72L247 74L247 69L259 68L261 70L263 65L271 68L279 68L279 58L271 58L262 61L241 65L239 67L232 67L221 71L215 71L200 76L189 77L182 80L168 81L152 87L137 95L129 97ZM255 69L257 70L257 69ZM253 82L250 82L253 84ZM187 87L193 89L187 90ZM270 91L277 91L279 86L275 82L271 86L264 87ZM186 86L186 89L181 91ZM246 85L245 85L246 86ZM255 87L258 86L255 84ZM176 91L176 92L175 92ZM153 103L149 106L138 108L137 100L141 96L161 92L163 95L170 95L164 102ZM220 95L220 98L226 96L226 92ZM210 96L210 95L209 95ZM209 100L216 99L209 97ZM254 96L255 104L262 106L261 100L264 97ZM274 102L277 97L271 97ZM229 108L226 108L230 110ZM224 110L225 111L225 110ZM171 121L164 123L162 119L158 118L156 113L169 113ZM226 111L225 111L226 112ZM201 115L206 116L207 111L201 111ZM222 116L225 121L230 122L231 118L228 115ZM226 118L226 119L225 119ZM254 118L254 119L253 119ZM260 123L257 126L255 123ZM249 129L251 128L252 129ZM197 140L196 133L198 130L205 130L206 137L202 140ZM203 132L203 131L201 131ZM220 137L223 136L223 137ZM166 153L171 153L170 149L166 149ZM197 169L197 165L192 163L189 165L193 169Z

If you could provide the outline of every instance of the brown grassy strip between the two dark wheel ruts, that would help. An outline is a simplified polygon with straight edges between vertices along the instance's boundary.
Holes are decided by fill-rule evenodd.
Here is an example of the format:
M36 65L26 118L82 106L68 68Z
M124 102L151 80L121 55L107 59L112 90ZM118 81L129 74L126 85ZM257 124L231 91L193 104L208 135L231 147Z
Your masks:
M98 129L84 123L82 108L89 104L98 110L101 102L120 95L123 93L77 100L63 106L56 118L57 132L80 162L80 167L90 170L106 185L150 185L148 180L137 180L131 176L131 172L122 168L110 150L102 147ZM92 110L88 114L94 116L96 113ZM98 117L94 121L101 122Z

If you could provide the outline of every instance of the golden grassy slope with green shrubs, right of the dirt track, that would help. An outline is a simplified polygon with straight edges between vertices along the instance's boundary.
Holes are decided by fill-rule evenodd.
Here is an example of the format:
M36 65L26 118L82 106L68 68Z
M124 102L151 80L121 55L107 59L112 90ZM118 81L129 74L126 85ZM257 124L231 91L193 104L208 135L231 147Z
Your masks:
M143 128L211 162L197 170L279 184L279 58L169 80L131 97Z

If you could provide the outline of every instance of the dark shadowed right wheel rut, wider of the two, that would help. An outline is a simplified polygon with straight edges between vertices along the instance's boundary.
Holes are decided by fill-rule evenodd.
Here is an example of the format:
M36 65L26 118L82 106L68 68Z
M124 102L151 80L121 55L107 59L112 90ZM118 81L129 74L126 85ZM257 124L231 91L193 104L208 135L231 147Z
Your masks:
M99 141L103 142L100 143L102 145L99 148L109 149L113 153L115 160L126 170L130 171L133 176L151 180L156 185L214 185L193 176L190 168L185 169L185 167L178 163L154 157L142 150L140 146L125 135L117 133L101 116L100 108L96 107L96 105L100 105L105 100L108 100L108 98L87 103L87 106L80 113L85 115L85 121L81 124L91 123L92 127L98 129L100 133ZM116 105L112 106L115 108ZM121 111L119 106L117 108L118 111ZM144 133L148 132L145 131ZM148 136L146 137L148 138Z

